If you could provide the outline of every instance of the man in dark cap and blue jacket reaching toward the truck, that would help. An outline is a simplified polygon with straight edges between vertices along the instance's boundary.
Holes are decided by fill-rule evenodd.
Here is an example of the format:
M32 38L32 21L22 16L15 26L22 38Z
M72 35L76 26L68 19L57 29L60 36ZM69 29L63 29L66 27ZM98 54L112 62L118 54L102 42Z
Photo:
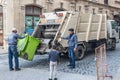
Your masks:
M69 35L67 37L62 37L62 39L68 40L68 53L69 53L69 62L67 65L71 69L75 68L75 51L77 50L77 35L74 33L74 29L70 28Z

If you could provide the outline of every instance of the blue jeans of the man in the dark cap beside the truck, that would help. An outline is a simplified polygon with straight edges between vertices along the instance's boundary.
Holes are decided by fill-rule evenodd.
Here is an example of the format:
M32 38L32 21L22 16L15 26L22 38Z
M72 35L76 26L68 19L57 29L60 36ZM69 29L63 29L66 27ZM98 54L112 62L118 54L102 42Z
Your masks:
M72 67L75 67L75 53L74 53L74 47L69 47L69 48L68 48L68 53L69 53L70 65L71 65Z

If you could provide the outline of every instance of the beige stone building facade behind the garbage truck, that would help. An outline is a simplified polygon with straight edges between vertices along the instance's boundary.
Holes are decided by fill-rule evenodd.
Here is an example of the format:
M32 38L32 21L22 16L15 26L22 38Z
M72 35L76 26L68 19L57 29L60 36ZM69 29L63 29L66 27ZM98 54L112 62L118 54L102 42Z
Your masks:
M120 14L120 0L0 0L0 46L7 45L13 27L19 33L33 30L43 12L67 10L104 13L112 19Z

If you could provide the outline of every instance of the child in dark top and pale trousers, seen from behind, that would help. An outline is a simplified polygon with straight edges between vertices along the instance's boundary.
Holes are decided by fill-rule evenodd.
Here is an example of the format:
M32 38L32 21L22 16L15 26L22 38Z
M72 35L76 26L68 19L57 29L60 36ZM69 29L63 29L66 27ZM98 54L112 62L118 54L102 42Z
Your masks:
M56 50L56 46L52 46L52 50L49 52L49 65L50 65L50 78L49 80L57 80L57 65L59 64L60 57L59 52Z

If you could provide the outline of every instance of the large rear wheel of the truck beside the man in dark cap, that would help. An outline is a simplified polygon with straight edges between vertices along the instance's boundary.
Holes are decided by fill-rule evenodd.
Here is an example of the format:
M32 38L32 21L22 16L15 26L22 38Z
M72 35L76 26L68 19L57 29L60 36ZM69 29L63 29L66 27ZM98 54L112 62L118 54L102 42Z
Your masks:
M76 59L81 60L84 58L84 54L85 54L85 49L83 46L79 45L77 48L77 51L75 53L76 55Z

